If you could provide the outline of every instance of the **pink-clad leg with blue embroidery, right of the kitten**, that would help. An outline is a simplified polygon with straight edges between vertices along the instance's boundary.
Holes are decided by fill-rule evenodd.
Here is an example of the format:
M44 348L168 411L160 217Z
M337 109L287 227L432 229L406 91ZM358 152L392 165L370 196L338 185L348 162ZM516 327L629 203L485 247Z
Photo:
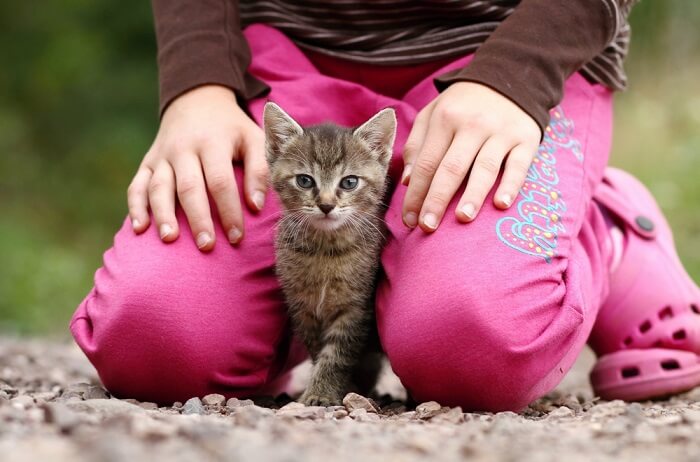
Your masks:
M453 66L463 65L463 62ZM420 109L432 77L403 98ZM492 196L461 224L408 230L398 186L387 214L377 314L382 344L418 400L516 410L553 388L586 342L607 290L609 241L591 201L610 147L611 95L573 76L513 207Z

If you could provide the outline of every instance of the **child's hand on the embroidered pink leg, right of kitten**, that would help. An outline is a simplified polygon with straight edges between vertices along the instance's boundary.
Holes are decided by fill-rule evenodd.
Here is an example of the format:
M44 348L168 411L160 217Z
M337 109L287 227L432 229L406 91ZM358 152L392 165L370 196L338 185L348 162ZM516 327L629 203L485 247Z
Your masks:
M535 120L500 93L472 82L450 85L418 113L406 141L404 223L434 231L470 168L456 215L462 222L473 220L504 161L494 203L508 208L540 138Z

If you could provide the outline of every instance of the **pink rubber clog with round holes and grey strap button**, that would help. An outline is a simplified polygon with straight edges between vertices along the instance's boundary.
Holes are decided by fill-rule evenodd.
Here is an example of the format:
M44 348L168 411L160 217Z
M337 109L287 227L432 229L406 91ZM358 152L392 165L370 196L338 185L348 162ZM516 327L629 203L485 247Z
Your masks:
M589 339L599 357L590 376L595 393L634 401L699 386L700 289L683 268L656 201L614 168L594 198L625 233Z

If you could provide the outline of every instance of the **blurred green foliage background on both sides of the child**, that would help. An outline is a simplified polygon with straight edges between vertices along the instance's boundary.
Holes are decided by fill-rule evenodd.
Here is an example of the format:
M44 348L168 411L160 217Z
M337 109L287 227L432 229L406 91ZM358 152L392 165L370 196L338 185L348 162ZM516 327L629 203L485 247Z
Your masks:
M700 2L645 0L631 22L612 164L700 280ZM146 0L0 1L0 330L65 334L156 133L155 54Z

